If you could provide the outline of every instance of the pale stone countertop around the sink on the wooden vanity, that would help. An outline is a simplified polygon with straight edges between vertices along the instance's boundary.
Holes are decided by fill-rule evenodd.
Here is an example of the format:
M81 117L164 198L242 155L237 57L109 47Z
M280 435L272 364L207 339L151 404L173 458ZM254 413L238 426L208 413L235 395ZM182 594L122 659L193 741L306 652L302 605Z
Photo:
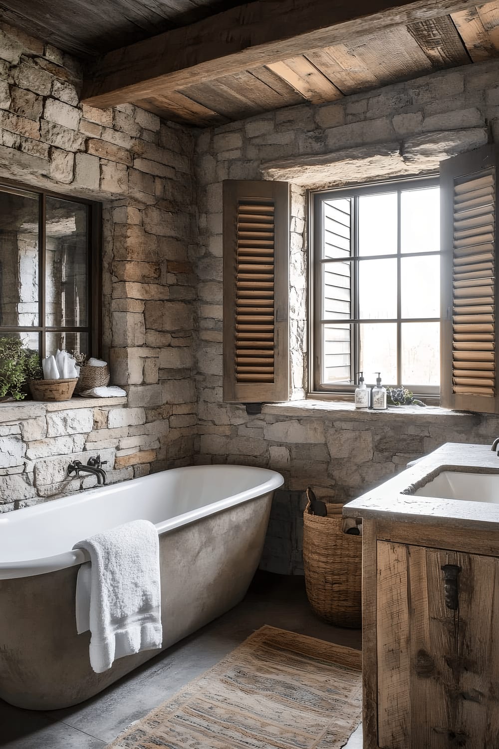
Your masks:
M498 473L499 458L490 445L446 443L414 466L343 507L343 515L366 520L442 524L446 527L499 530L499 503L465 502L405 494L444 470Z

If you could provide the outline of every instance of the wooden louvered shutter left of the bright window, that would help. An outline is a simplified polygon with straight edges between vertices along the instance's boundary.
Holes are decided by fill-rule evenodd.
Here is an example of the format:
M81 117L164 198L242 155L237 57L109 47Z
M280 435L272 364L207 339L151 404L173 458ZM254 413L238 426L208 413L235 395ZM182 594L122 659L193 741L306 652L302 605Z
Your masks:
M290 192L224 181L224 401L290 395Z

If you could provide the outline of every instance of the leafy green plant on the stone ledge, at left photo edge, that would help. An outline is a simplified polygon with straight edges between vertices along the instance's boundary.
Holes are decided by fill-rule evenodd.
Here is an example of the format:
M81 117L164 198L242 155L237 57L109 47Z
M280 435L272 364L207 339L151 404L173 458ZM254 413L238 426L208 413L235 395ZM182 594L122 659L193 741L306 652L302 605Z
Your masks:
M22 401L28 380L42 377L40 356L19 338L0 338L0 401Z

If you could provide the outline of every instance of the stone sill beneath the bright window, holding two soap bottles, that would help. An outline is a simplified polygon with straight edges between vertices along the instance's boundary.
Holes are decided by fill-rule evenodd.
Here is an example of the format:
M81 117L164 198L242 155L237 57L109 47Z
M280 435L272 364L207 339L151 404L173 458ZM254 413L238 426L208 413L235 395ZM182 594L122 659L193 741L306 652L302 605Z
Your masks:
M319 401L308 398L306 401L287 401L263 406L262 413L269 416L311 416L314 418L358 419L376 421L397 419L401 421L438 421L462 419L470 416L465 411L452 411L440 406L388 406L385 411L355 408L352 401Z

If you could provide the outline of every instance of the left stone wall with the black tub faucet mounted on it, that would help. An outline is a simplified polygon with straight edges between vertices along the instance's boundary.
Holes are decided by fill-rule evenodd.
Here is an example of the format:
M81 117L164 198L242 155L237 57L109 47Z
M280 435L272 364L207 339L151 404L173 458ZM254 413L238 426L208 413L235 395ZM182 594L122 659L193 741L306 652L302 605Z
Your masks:
M102 355L128 404L1 405L0 512L74 491L82 452L111 481L192 462L193 131L81 106L81 85L73 58L0 24L0 180L102 201Z

